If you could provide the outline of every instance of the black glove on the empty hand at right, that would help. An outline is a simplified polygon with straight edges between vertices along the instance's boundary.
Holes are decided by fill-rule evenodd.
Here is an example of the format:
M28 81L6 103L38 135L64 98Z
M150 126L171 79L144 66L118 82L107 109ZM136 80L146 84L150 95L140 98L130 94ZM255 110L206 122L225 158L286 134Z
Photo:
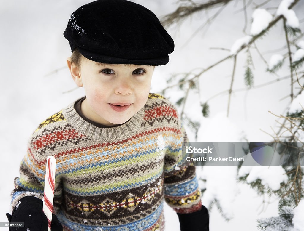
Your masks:
M209 213L205 206L194 213L177 213L181 231L209 231Z

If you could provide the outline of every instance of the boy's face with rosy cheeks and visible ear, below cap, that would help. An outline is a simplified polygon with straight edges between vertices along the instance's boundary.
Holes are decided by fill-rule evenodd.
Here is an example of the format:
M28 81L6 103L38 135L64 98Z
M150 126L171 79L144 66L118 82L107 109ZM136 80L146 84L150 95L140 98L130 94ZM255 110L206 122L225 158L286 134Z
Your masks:
M81 57L80 68L72 65L70 70L87 96L81 104L82 113L95 122L113 126L125 123L145 105L154 67L103 64Z

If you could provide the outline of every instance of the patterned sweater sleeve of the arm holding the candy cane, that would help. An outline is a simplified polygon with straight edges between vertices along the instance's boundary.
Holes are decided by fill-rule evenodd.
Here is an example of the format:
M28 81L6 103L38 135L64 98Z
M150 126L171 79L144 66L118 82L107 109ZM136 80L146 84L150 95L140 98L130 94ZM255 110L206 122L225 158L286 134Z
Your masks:
M28 150L20 164L20 176L14 179L15 189L12 191L11 209L25 196L34 196L43 200L44 180L47 155L37 155L33 146L29 144ZM59 177L55 177L55 191L53 213L57 213L61 204L62 187Z

